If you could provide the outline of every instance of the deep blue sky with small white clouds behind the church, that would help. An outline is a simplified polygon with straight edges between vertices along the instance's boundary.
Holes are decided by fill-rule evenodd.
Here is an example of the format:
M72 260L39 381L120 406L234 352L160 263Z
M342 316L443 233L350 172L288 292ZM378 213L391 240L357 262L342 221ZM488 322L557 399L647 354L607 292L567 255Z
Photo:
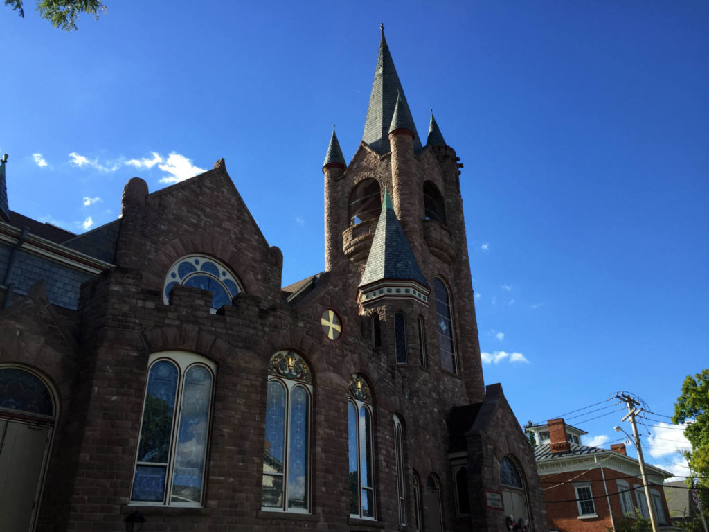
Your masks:
M486 382L520 423L633 392L675 470L650 420L709 365L706 2L106 4L74 33L0 11L11 209L82 232L130 177L225 157L283 284L323 270L320 167L333 123L359 145L384 22L419 134L432 108L464 163ZM566 419L611 443L616 402Z

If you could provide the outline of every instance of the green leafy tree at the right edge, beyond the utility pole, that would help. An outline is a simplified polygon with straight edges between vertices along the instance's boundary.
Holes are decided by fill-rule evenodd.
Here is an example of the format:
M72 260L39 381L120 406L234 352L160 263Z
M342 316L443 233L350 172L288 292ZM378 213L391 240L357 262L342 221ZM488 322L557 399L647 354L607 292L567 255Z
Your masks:
M709 370L687 375L682 383L672 423L687 422L684 436L692 445L692 450L686 453L689 467L700 477L709 477Z

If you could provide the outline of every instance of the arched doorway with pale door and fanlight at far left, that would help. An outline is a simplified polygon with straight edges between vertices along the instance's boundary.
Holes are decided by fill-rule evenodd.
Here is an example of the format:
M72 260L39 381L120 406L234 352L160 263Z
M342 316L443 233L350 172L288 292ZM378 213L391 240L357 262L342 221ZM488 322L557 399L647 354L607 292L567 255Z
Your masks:
M47 382L0 367L0 516L4 530L32 531L57 408Z

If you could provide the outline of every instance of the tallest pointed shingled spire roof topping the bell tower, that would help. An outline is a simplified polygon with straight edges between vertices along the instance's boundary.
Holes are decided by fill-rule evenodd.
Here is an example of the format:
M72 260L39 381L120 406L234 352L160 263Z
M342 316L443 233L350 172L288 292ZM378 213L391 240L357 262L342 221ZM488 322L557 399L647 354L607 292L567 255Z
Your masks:
M416 133L411 110L406 103L406 95L403 94L401 82L394 62L389 53L389 46L384 38L384 27L381 28L381 42L379 43L379 57L376 58L376 70L374 70L374 82L372 83L372 94L369 96L369 109L367 109L367 121L364 122L364 134L362 140L369 145L379 155L389 153L389 126L391 118L396 108L397 94L401 94L402 116L406 116L406 121L411 123L413 131L413 150L415 153L421 150L421 141Z

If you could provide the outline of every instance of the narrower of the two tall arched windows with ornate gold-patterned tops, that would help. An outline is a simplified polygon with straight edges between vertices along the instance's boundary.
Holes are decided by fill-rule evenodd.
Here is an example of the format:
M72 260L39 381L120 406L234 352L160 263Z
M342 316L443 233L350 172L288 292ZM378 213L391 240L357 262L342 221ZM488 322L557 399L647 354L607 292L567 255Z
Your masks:
M372 392L362 375L350 377L347 446L350 461L350 516L374 519L374 434Z

